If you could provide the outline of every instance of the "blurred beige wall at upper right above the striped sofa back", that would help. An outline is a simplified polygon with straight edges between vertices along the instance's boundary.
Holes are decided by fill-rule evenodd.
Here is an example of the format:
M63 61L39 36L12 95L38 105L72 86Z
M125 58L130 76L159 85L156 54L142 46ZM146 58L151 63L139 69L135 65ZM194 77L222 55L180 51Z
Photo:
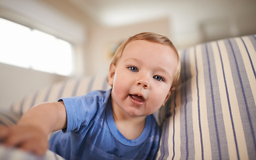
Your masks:
M256 33L256 1L175 1L168 7L178 48Z

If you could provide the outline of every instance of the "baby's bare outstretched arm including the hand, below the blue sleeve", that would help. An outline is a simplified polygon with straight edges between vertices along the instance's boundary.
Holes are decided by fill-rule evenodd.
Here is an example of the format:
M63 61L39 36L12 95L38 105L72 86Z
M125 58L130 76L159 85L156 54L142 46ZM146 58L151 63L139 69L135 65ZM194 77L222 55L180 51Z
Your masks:
M17 125L0 126L4 145L44 155L48 149L48 135L66 128L66 109L63 102L42 103L27 111Z

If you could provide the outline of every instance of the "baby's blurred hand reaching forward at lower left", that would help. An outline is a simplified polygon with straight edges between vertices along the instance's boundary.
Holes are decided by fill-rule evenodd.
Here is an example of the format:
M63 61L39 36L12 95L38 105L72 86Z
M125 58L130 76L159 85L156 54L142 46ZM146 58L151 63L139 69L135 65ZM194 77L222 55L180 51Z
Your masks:
M17 147L36 155L44 155L48 149L48 135L40 127L31 125L0 125L0 142L7 147Z

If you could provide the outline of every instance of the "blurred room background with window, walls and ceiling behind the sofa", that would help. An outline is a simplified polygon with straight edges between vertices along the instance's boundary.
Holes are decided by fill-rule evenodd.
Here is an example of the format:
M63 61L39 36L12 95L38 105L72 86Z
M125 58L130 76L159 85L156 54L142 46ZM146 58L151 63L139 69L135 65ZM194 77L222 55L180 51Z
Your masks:
M0 109L58 81L106 74L116 47L151 31L178 50L256 33L255 0L0 0Z

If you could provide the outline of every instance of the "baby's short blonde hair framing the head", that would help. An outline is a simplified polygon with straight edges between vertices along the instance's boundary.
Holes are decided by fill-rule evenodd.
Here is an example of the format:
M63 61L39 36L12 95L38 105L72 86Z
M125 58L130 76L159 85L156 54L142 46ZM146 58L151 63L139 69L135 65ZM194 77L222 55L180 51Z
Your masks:
M161 45L167 45L167 46L170 46L174 50L174 52L176 53L176 55L178 57L178 67L177 67L176 73L174 75L174 81L172 83L172 87L170 88L171 92L174 91L180 81L179 80L180 79L180 56L178 54L176 47L174 47L174 44L172 43L172 41L170 41L170 39L168 39L168 37L166 37L164 35L159 35L157 33L151 33L151 32L144 32L144 33L139 33L137 35L134 35L133 37L129 37L129 39L124 41L118 47L117 51L115 52L115 55L113 56L111 64L116 65L117 61L121 58L121 56L123 54L123 50L125 49L125 46L128 43L130 43L131 41L136 41L136 40L144 40L144 41L150 41L153 43L159 43Z

